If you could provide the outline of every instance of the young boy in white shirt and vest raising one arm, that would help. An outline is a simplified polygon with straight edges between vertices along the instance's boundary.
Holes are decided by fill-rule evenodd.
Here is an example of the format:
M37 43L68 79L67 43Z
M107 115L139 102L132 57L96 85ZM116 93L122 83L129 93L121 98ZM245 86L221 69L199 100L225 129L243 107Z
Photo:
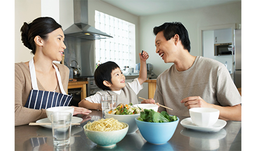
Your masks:
M140 55L140 74L133 82L125 83L125 76L123 76L120 67L115 62L106 62L97 67L94 73L96 85L102 89L95 95L89 96L81 102L79 107L86 109L102 110L101 109L101 95L115 94L118 95L117 104L119 103L133 103L137 104L137 94L143 88L143 82L147 80L146 60L148 53L143 51Z

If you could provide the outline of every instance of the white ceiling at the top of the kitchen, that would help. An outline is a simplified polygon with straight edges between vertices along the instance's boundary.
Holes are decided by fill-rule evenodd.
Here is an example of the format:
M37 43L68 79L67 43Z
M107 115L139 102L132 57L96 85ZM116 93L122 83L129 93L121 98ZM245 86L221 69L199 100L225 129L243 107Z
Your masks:
M241 0L101 0L136 16L202 8Z

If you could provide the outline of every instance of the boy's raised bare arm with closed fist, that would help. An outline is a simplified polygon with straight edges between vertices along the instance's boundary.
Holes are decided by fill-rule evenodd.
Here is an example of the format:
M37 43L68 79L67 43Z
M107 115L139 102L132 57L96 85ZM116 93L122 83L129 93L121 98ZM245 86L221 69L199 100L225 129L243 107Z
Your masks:
M143 84L147 80L147 63L146 60L148 59L148 53L143 51L143 54L139 53L140 55L140 74L138 75L138 82Z

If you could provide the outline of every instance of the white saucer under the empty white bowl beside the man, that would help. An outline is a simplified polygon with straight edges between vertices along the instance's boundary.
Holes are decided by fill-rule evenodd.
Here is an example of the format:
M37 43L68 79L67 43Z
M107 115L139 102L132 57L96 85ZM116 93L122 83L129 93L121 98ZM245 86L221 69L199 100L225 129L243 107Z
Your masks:
M180 121L180 124L182 124L183 127L190 128L192 130L211 132L211 131L221 130L223 127L225 127L227 122L224 120L218 119L218 121L211 127L199 127L198 125L195 125L193 123L193 121L191 120L191 117L188 117L188 118L184 118L182 121Z

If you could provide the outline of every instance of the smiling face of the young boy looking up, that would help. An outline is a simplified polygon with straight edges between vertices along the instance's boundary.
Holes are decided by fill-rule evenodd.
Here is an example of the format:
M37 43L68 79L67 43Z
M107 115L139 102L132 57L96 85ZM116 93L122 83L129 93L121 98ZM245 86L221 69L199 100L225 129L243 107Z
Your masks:
M125 76L123 76L122 71L120 68L116 68L115 70L112 70L111 73L111 82L109 82L109 88L111 91L119 91L123 87L125 87Z

